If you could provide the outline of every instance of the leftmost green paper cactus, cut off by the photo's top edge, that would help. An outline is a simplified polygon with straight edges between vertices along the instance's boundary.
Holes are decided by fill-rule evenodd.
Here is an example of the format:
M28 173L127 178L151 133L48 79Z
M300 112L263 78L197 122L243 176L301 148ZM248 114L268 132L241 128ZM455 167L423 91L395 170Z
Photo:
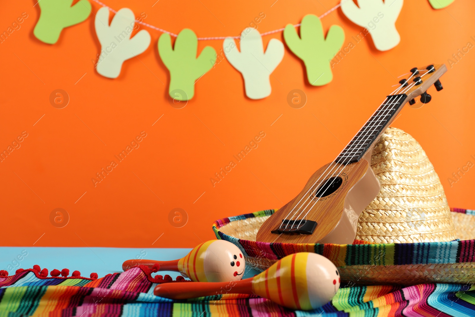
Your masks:
M41 13L33 34L40 41L55 44L61 31L87 19L91 13L91 4L80 0L71 6L73 0L40 0Z

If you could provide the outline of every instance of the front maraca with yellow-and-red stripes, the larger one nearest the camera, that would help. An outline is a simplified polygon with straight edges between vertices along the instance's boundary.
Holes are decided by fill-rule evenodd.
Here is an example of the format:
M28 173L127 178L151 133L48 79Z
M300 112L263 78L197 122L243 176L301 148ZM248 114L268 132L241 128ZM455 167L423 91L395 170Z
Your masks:
M196 298L228 293L255 294L281 306L310 310L323 306L340 288L340 274L327 258L316 253L300 252L278 260L254 278L221 283L166 283L155 287L153 294L171 299Z

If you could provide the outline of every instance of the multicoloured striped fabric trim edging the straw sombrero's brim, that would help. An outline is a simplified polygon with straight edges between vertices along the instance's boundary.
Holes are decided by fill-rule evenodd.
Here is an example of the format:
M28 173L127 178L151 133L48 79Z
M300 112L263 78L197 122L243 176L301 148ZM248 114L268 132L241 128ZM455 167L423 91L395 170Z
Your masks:
M271 209L224 218L213 223L213 231L218 239L234 243L246 256L254 258L276 260L296 252L314 252L330 259L337 267L475 262L475 240L390 244L291 244L241 240L219 231L220 227L231 221L269 216L274 211Z

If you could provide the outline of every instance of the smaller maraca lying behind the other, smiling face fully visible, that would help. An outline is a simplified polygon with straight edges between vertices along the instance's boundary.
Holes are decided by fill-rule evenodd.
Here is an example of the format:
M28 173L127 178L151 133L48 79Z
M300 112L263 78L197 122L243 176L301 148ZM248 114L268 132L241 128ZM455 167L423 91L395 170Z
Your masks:
M242 279L246 263L241 250L226 240L209 240L199 244L184 258L172 261L126 260L125 271L138 264L154 271L177 271L195 282L229 282Z

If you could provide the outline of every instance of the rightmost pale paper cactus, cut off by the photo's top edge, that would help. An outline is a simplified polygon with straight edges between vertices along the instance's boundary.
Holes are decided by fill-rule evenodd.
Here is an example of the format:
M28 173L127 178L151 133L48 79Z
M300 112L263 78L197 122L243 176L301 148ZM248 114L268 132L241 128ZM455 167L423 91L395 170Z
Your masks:
M359 8L353 0L342 1L340 4L348 19L370 32L374 46L380 51L386 51L398 45L401 39L395 23L402 3L403 0L358 0Z

